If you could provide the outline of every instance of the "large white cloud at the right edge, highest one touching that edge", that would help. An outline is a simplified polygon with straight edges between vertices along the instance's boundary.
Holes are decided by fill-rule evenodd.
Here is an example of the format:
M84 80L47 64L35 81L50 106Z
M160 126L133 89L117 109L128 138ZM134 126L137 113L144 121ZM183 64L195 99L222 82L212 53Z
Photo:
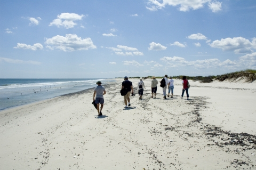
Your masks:
M252 49L256 49L256 38L252 39L252 42L249 39L243 37L234 37L215 40L212 44L209 44L214 48L221 48L223 51L234 51L235 53L251 53Z

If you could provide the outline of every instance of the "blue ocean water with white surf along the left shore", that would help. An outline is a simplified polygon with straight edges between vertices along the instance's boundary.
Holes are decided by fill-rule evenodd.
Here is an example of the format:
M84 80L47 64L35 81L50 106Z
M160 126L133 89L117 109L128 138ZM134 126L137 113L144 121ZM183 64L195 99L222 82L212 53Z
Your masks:
M79 92L98 80L102 85L114 79L0 79L0 110Z

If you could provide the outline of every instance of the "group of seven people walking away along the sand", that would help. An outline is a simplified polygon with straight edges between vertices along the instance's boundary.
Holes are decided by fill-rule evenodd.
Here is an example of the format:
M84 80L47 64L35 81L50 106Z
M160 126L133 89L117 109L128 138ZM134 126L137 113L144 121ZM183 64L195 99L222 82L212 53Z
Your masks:
M170 76L169 79L167 78L168 76L165 75L164 78L161 80L161 87L163 88L163 95L164 95L164 99L166 99L166 90L168 89L168 95L167 97L169 98L173 98L173 89L174 89L174 80L172 79L172 77ZM146 89L144 82L142 81L142 77L140 77L140 81L138 82L138 94L139 94L139 100L142 100L142 96L143 96L143 91L144 89ZM103 95L106 94L106 90L105 87L101 86L101 82L98 81L96 83L98 86L95 87L94 89L94 94L93 94L93 101L95 102L95 104L97 104L97 110L98 110L98 116L102 116L102 109L103 109L103 104L104 104L104 99L103 99ZM151 80L151 93L152 96L151 98L156 99L156 91L157 91L157 84L158 81L156 79L155 76L152 77ZM188 88L189 88L189 83L188 80L186 78L186 76L182 77L182 94L181 94L181 99L183 98L184 92L186 91L187 94L187 100L189 100L189 95L188 95ZM130 80L128 80L128 77L125 76L124 77L124 81L122 82L122 88L121 91L125 90L127 93L124 95L124 104L125 104L125 108L128 108L129 106L131 106L130 103L130 95L135 95L133 93L133 85L132 82ZM170 96L171 93L171 96ZM95 98L96 97L96 98ZM101 104L101 107L100 107Z

